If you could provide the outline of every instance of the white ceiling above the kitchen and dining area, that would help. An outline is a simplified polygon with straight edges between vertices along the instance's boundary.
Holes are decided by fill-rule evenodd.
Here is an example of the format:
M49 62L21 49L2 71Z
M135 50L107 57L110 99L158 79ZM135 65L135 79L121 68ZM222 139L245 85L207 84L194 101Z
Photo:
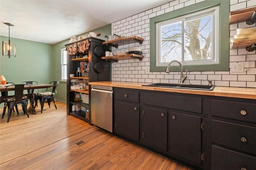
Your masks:
M0 0L0 35L58 43L172 0Z

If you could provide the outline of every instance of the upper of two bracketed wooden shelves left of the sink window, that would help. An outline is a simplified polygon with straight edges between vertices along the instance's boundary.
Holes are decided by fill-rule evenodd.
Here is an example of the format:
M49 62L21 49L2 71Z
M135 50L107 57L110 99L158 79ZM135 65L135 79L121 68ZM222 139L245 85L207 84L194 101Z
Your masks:
M107 44L107 45L111 45L113 47L118 48L118 45L126 45L134 42L139 42L140 44L142 44L143 41L144 41L143 38L140 38L138 36L131 36L131 37L125 37L125 38L117 38L115 40L103 42L102 44Z

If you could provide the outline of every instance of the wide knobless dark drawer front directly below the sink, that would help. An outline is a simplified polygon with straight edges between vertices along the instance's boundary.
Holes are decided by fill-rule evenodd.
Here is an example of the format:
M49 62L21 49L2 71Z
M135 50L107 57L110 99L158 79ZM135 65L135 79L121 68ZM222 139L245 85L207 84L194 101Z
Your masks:
M202 98L144 93L144 103L182 111L202 113Z

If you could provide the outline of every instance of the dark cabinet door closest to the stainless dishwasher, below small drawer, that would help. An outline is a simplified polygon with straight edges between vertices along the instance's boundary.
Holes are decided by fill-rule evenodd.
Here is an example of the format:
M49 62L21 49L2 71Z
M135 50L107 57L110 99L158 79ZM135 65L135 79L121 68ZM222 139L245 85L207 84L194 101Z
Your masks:
M114 119L115 133L139 140L140 106L117 101Z

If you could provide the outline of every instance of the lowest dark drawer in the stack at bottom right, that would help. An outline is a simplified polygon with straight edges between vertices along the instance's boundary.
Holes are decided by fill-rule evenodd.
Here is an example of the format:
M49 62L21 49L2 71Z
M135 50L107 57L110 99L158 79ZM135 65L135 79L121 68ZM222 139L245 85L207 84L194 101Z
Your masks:
M255 170L256 158L212 146L212 170Z

